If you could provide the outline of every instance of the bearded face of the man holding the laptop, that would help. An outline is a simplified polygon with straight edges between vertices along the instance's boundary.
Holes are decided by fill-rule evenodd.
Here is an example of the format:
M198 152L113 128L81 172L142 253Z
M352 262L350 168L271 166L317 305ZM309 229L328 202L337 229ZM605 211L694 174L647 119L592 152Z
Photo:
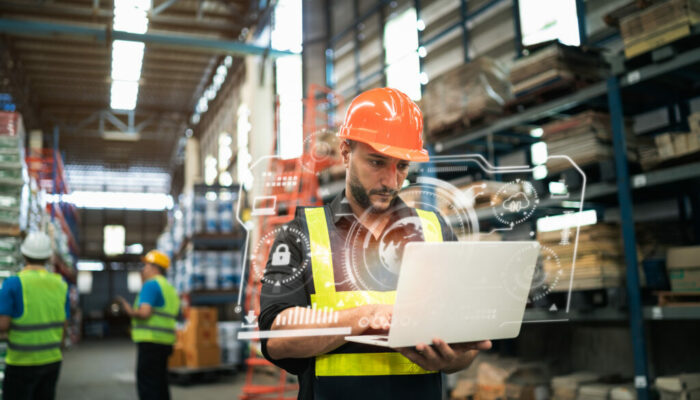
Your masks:
M364 143L350 149L342 142L340 147L351 196L371 213L387 211L408 175L409 162L385 156Z

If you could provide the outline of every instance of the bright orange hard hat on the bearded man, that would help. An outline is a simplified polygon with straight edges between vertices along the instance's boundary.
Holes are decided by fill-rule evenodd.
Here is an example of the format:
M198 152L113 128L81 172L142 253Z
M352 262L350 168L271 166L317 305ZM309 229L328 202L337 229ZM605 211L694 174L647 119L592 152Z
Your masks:
M366 143L389 157L428 161L422 133L423 113L418 105L396 89L378 88L353 99L338 137Z

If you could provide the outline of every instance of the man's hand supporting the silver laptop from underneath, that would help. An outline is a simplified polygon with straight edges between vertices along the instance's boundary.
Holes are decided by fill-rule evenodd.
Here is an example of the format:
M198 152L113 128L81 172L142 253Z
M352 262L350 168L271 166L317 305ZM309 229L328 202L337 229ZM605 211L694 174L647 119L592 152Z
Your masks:
M415 348L397 349L406 358L427 371L453 373L467 368L479 350L491 348L490 340L472 343L456 343L449 346L442 339L433 339L433 346L419 344Z

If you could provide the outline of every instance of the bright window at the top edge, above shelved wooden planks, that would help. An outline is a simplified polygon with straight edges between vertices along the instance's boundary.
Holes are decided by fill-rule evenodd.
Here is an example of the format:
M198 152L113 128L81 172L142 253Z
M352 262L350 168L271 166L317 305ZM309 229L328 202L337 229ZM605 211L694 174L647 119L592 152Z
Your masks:
M520 0L519 6L524 46L554 39L570 46L581 44L576 0Z

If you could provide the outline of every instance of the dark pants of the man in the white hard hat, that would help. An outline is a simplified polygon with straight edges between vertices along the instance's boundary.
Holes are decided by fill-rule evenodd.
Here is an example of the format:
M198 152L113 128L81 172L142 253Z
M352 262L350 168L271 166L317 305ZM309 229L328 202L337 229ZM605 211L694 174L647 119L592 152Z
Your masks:
M61 362L5 367L2 396L6 400L53 400Z

